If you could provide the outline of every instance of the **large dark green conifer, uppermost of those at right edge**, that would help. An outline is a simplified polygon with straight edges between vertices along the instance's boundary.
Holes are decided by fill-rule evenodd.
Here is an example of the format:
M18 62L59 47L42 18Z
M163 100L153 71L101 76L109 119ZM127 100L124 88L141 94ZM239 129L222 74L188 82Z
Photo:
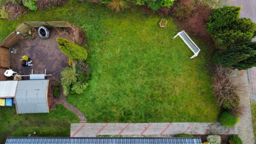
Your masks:
M256 36L256 24L250 19L239 19L241 7L229 6L214 10L207 22L207 31L219 49L250 42Z

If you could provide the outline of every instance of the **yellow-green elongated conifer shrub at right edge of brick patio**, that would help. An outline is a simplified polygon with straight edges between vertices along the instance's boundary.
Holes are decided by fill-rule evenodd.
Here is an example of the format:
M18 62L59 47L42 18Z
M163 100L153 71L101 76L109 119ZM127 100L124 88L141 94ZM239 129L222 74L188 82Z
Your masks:
M59 44L59 49L68 57L76 60L86 60L87 50L84 47L60 37L57 38L57 43Z

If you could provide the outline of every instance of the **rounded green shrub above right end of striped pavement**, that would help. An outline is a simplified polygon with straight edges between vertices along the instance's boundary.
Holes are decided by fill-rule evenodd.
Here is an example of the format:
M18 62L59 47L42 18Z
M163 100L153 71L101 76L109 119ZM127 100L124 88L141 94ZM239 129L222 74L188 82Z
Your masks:
M223 112L220 116L220 123L224 126L234 126L237 122L238 118L228 111Z

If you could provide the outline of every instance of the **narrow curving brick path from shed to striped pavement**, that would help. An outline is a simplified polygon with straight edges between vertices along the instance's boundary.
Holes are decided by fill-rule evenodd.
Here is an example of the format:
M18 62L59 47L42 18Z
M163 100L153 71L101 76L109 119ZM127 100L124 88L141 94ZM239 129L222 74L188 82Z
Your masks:
M56 104L65 106L79 117L81 123L86 123L86 118L82 111L71 105L71 103L67 102L67 97L62 94L62 86L60 86L60 97L56 99Z

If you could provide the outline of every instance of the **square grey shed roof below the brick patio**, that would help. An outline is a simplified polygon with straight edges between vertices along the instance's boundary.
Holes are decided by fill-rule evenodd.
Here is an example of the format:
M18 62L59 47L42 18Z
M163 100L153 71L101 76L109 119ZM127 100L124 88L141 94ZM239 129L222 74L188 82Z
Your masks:
M48 82L48 79L18 82L15 96L18 114L49 113L46 99Z

